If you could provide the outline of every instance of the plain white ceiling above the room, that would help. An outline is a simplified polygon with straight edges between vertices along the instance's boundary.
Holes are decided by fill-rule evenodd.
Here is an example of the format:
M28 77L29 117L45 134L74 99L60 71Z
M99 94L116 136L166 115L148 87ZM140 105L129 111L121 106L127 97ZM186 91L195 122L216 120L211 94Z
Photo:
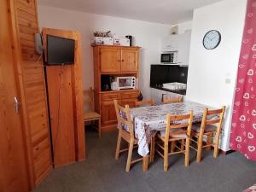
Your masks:
M39 5L98 15L177 24L192 20L193 9L222 0L38 0Z

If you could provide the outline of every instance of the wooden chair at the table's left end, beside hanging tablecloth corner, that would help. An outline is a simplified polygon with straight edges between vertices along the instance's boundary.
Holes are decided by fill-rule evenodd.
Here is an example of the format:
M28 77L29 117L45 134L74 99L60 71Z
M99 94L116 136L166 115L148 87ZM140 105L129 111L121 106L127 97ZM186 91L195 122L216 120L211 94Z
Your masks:
M133 122L131 120L129 105L125 105L125 108L121 107L116 100L113 100L114 108L118 119L119 136L115 152L115 160L119 159L119 154L128 151L127 163L125 171L129 172L131 164L134 164L143 158L137 160L131 160L132 150L138 142L137 138L134 137ZM121 140L124 139L128 144L129 148L120 149Z

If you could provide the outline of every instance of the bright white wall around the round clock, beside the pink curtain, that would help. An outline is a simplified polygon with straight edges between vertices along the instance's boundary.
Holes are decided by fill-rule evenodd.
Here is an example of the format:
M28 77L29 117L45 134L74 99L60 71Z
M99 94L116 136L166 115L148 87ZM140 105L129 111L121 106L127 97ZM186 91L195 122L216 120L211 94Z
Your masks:
M221 148L229 149L231 108L241 50L247 0L226 0L195 9L190 45L187 99L212 107L227 106ZM202 39L217 29L222 40L217 49L207 50ZM230 83L225 80L230 79Z

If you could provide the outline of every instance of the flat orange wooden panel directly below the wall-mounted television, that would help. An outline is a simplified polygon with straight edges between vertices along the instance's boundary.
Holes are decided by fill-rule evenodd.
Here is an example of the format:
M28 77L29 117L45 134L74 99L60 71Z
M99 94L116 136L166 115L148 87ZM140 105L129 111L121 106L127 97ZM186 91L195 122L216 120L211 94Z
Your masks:
M71 67L46 68L55 167L75 162Z

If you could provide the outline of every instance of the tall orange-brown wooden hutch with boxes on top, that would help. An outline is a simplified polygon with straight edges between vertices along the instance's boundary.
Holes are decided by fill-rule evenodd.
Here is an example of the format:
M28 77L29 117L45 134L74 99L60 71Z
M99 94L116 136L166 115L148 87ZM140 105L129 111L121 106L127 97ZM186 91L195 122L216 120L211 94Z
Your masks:
M140 48L115 45L92 45L92 47L95 109L102 115L102 131L113 131L117 124L113 100L116 99L123 106L128 104L131 108L135 107L139 90L104 90L102 79L103 77L108 79L108 76L134 76L138 82Z

